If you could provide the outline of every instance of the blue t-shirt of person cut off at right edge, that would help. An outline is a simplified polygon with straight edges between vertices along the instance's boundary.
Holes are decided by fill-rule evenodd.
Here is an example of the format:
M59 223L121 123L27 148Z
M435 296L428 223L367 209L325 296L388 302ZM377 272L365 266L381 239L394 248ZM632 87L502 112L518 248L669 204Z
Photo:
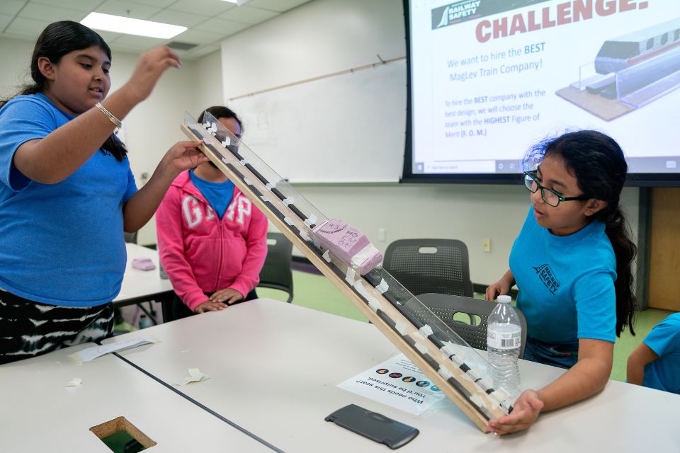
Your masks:
M652 329L643 340L659 357L645 365L645 387L680 394L680 313Z

